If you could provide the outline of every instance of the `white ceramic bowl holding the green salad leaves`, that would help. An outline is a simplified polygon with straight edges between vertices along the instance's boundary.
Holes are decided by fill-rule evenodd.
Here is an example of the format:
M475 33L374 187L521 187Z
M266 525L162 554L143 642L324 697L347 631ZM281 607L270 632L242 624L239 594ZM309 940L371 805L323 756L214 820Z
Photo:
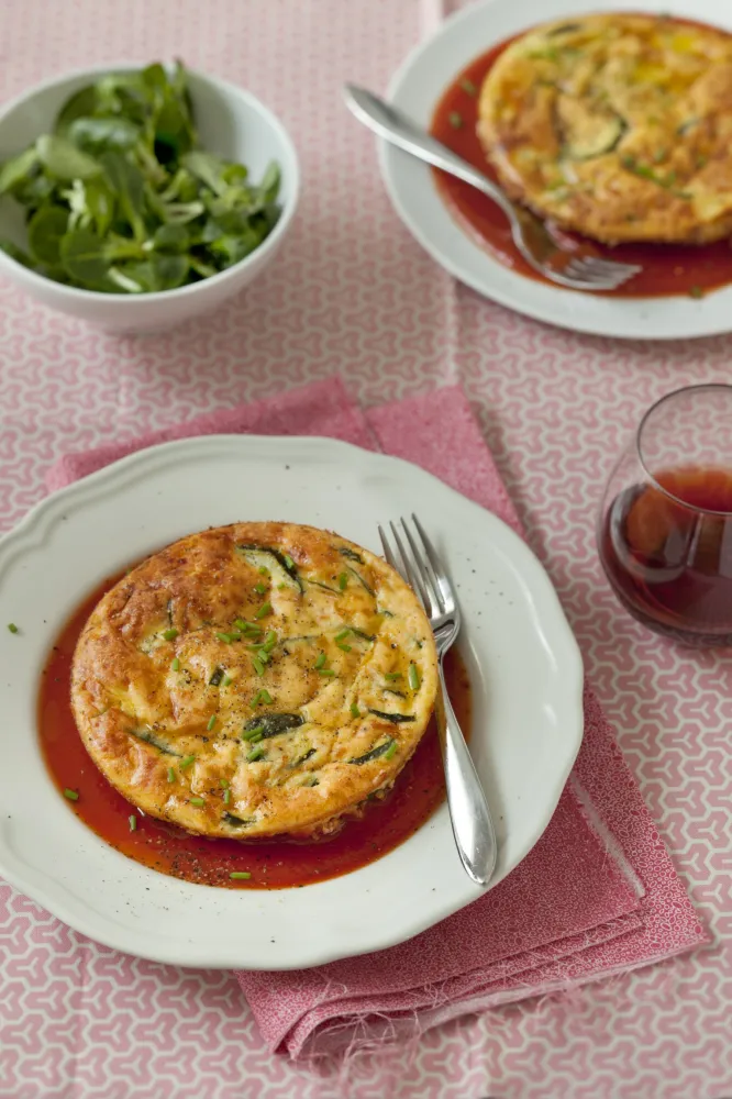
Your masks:
M0 110L0 162L48 133L66 99L104 73L142 68L141 63L99 65L77 69L36 85ZM224 80L188 70L201 146L245 164L258 180L270 160L281 170L282 212L264 243L246 258L211 278L160 293L110 295L78 290L36 275L0 249L0 275L26 290L44 306L78 317L108 332L147 332L174 328L215 309L252 282L274 259L292 223L300 187L298 157L284 125L255 96ZM0 199L0 236L26 246L23 211L18 202Z

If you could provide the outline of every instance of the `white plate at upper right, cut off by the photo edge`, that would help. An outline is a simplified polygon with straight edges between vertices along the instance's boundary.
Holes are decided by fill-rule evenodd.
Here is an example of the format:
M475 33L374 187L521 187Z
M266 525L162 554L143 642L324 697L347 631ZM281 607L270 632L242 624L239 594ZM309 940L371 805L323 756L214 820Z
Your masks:
M448 19L418 46L389 86L389 99L429 126L443 91L475 57L536 23L592 11L666 11L732 30L729 0L484 0ZM509 270L474 243L448 213L431 169L379 143L384 180L407 227L433 259L478 293L561 328L635 340L677 340L732 330L732 287L697 300L605 298L562 290Z

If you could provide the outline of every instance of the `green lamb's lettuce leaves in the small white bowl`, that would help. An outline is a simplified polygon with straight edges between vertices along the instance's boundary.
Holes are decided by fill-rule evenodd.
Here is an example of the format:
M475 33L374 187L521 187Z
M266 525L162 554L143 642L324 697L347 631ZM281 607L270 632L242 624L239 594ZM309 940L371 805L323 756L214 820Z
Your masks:
M110 74L64 104L54 131L0 167L25 208L27 251L8 255L67 286L145 293L209 278L258 247L279 215L280 175L200 148L176 62Z

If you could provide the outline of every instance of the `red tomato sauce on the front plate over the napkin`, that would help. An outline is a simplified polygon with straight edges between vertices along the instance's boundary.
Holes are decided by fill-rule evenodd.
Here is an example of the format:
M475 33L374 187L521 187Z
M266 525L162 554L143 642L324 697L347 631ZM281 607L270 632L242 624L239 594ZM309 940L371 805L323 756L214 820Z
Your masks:
M445 796L440 741L434 719L399 775L393 789L348 821L337 835L315 842L206 839L144 814L122 797L87 754L70 704L71 660L85 622L110 579L74 613L56 640L44 667L38 699L43 756L54 785L68 807L117 851L163 874L208 886L286 889L323 881L373 863L403 843L430 819ZM470 685L456 651L446 660L448 692L466 735L470 729ZM135 818L134 831L130 818ZM248 872L248 880L232 872Z

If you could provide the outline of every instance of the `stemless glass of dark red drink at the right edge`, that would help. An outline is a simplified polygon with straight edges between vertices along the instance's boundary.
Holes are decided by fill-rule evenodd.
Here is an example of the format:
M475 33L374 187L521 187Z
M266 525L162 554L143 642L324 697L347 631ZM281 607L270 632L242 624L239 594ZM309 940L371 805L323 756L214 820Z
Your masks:
M610 475L600 562L625 610L690 645L732 645L732 386L668 393Z

